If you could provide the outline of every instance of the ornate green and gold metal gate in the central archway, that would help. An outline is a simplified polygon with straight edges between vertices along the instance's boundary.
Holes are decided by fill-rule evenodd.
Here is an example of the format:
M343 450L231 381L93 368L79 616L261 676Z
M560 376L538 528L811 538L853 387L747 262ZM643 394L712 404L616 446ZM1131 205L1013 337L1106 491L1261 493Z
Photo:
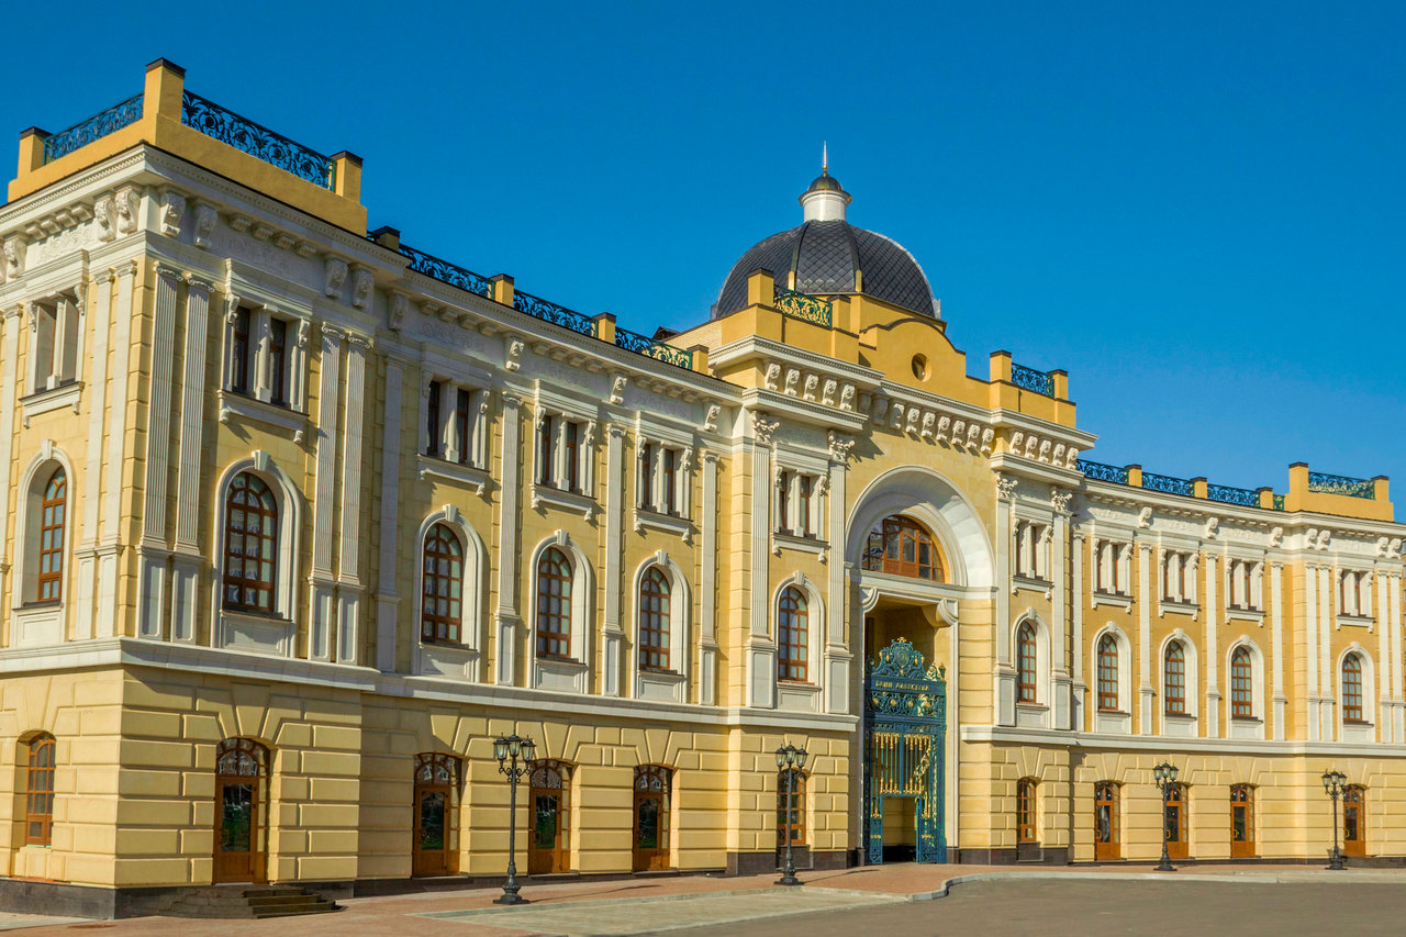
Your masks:
M915 798L920 862L946 862L943 740L946 668L924 667L905 639L869 660L865 681L865 808L868 861L883 862L884 798Z

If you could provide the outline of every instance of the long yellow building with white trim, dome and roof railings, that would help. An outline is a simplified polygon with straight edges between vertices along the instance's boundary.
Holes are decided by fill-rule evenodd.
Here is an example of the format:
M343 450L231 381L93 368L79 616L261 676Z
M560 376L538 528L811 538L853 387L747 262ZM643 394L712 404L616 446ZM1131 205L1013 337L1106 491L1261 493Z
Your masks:
M495 877L513 732L533 875L769 869L783 817L817 868L1320 861L1327 768L1406 857L1386 478L1083 460L828 173L664 340L367 234L360 177L163 60L21 136L0 900Z

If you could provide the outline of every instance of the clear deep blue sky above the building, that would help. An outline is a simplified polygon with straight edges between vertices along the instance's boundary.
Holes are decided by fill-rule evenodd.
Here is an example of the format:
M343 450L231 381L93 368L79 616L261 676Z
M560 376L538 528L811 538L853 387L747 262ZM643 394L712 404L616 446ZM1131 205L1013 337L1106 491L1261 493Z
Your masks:
M1406 4L917 6L15 4L0 134L165 56L361 155L373 227L643 332L799 224L828 141L970 371L1070 371L1091 459L1406 502Z

